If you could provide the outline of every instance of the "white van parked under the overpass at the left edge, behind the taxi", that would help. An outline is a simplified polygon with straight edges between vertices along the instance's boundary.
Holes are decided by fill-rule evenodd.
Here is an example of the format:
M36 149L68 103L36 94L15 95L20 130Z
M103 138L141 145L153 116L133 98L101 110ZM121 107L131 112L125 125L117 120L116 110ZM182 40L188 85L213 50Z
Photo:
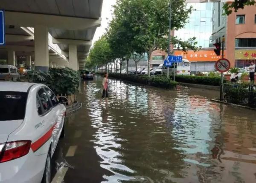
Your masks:
M13 65L0 65L0 81L17 81L20 79L18 70Z

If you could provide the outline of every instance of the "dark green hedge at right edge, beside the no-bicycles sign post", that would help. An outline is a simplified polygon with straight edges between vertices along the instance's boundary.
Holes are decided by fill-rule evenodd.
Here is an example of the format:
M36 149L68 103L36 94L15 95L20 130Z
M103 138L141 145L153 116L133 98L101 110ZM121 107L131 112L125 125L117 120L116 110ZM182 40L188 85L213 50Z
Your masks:
M224 99L229 103L256 107L256 91L250 90L251 87L252 85L248 83L225 83Z

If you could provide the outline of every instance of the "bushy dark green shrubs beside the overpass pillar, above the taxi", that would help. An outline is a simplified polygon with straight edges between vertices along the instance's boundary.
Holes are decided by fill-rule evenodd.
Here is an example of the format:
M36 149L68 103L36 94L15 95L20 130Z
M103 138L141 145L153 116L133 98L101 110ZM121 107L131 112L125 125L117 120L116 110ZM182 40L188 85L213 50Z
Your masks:
M47 85L57 94L73 94L79 87L80 75L70 68L50 68L47 73L31 70L27 74L29 82Z

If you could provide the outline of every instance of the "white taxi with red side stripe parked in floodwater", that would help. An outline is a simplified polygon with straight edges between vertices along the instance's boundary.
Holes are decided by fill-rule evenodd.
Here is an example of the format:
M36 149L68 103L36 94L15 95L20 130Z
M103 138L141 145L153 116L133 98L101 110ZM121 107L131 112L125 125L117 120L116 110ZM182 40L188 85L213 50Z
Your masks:
M0 183L50 183L65 114L44 84L0 82Z

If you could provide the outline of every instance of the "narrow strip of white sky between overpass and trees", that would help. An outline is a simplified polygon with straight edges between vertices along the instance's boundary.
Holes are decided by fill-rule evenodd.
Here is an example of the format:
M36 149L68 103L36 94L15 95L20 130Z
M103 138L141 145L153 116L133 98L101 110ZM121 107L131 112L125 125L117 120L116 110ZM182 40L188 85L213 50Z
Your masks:
M108 28L108 22L112 20L113 5L116 4L116 0L103 0L102 4L102 24L96 29L93 37L93 44L99 39L105 32L105 28Z

